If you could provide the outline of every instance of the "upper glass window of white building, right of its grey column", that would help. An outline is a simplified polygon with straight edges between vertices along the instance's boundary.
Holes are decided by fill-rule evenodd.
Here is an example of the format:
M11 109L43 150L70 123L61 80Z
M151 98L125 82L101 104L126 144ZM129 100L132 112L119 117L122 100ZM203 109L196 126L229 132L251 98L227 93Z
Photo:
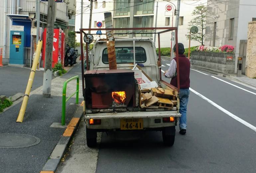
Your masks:
M134 0L134 14L154 14L154 4L152 0Z

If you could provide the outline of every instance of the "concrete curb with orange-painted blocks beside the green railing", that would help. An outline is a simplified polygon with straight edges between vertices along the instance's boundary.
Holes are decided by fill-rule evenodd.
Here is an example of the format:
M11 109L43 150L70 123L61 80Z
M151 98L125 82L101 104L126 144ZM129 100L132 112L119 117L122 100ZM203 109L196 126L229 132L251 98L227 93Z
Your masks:
M82 116L83 106L79 106L76 112L74 113L73 118L67 125L60 141L51 153L50 159L46 162L40 173L54 173L56 171L59 163L61 162L61 158L64 155L66 148L68 147L68 143L71 137L73 136L75 130L77 129Z

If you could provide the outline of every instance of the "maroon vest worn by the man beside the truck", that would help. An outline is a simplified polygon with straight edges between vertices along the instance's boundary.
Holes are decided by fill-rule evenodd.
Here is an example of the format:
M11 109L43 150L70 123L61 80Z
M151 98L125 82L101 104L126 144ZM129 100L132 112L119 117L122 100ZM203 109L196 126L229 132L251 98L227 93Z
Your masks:
M177 57L174 58L177 62ZM180 68L180 88L186 89L190 87L190 61L185 55L179 55L179 68ZM171 85L178 87L177 76L172 78Z

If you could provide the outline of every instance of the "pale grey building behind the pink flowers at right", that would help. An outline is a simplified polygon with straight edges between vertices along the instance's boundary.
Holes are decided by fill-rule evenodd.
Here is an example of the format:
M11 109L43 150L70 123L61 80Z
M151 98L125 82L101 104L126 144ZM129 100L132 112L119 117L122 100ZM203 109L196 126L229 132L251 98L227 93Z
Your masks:
M255 11L255 0L208 0L207 4L205 45L234 46L235 66L238 57L244 57L242 73L245 73L248 23L256 21Z

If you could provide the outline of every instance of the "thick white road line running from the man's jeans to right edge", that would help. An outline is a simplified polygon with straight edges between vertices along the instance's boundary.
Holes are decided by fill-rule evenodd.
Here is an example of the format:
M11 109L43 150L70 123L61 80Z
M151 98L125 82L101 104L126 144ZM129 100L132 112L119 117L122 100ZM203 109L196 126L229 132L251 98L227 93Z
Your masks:
M210 103L211 105L213 105L214 107L218 108L219 110L221 110L222 112L224 112L225 114L227 114L228 116L230 116L231 118L235 119L236 121L242 123L243 125L249 127L250 129L252 129L253 131L256 132L256 127L251 125L250 123L244 121L243 119L239 118L238 116L232 114L231 112L229 112L228 110L224 109L223 107L219 106L218 104L216 104L215 102L211 101L210 99L208 99L207 97L203 96L202 94L200 94L199 92L193 90L192 88L190 88L190 90L195 93L196 95L198 95L199 97L201 97L202 99L206 100L208 103Z

